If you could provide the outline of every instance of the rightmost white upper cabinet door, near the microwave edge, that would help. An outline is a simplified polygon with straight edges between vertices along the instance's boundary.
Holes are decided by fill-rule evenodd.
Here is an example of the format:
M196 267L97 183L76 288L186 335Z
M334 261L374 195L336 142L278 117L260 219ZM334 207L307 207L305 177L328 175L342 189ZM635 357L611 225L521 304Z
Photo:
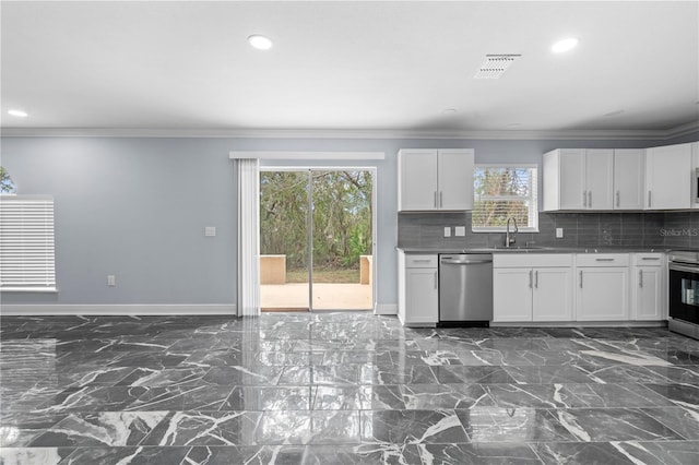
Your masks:
M691 206L691 145L667 145L645 152L645 208Z

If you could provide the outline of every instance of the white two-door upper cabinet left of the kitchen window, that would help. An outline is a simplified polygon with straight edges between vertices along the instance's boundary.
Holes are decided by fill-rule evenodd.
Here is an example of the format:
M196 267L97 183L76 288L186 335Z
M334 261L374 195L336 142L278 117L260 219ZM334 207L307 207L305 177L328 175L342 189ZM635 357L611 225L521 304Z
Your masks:
M404 148L398 154L398 210L472 210L472 148Z

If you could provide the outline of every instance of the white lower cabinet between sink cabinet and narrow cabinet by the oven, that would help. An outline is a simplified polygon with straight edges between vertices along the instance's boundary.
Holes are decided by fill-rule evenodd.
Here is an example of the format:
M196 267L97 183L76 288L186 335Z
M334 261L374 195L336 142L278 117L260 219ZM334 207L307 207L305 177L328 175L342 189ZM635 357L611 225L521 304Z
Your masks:
M584 253L576 257L578 321L630 319L629 254Z

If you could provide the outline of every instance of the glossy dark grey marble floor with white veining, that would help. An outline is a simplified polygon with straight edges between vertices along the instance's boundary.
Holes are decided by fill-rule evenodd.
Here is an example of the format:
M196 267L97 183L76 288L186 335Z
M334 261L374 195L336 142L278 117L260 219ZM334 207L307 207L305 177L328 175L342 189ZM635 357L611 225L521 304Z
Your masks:
M699 463L699 342L666 329L0 323L3 464Z

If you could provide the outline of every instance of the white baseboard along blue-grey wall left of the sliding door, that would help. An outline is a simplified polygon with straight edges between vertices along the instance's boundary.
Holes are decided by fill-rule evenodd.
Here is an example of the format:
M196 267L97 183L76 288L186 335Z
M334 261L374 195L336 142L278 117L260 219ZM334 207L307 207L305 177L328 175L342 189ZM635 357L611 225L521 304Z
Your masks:
M235 303L183 303L183 305L3 305L0 307L3 315L157 315L157 314L227 314L236 317Z

